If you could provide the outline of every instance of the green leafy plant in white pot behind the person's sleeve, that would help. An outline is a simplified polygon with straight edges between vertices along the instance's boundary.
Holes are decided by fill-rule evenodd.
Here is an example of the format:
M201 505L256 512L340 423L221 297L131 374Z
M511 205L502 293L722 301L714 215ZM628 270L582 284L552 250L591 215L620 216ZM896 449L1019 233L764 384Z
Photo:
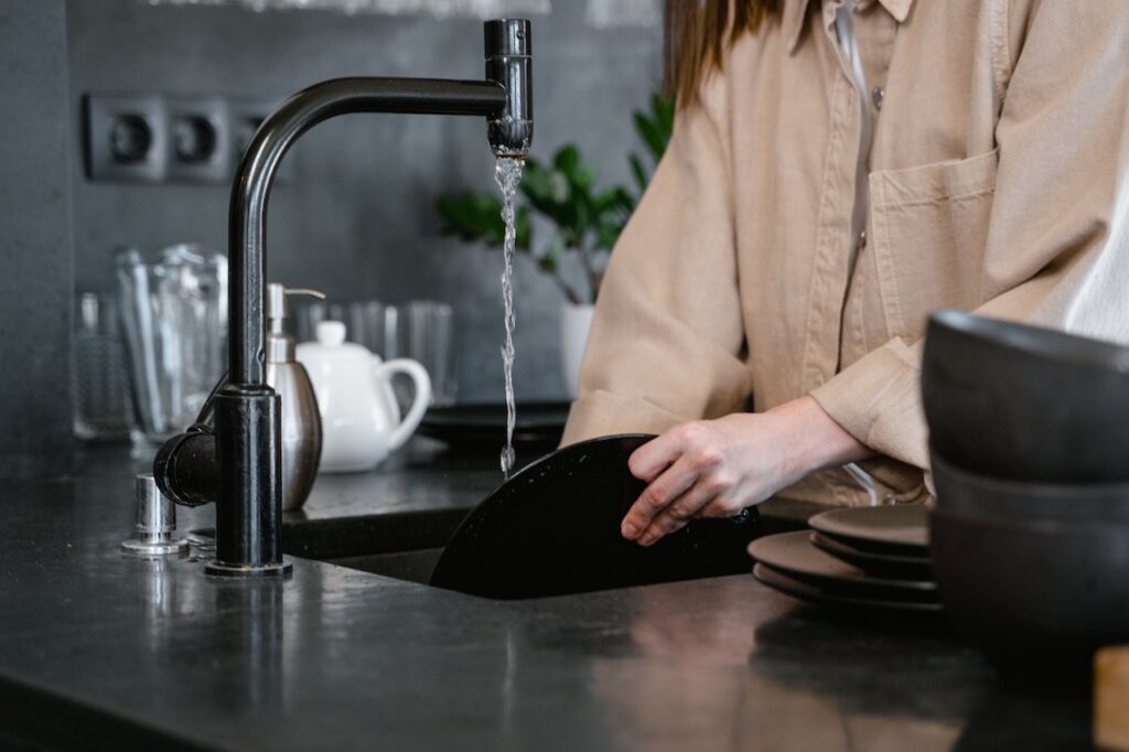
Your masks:
M674 126L674 102L660 94L650 97L646 112L633 113L634 129L650 155L651 164L666 150ZM548 274L564 297L561 314L561 365L564 382L575 396L580 359L588 339L593 306L607 256L620 231L650 181L650 168L636 152L628 155L634 189L623 185L596 186L596 170L585 163L579 148L569 143L553 154L549 164L528 158L519 186L520 203L515 212L517 250L527 254ZM466 191L440 196L436 208L443 230L463 241L500 248L505 237L501 199L495 192ZM549 228L544 239L534 238L533 217ZM561 262L574 254L584 274L577 286L561 273Z

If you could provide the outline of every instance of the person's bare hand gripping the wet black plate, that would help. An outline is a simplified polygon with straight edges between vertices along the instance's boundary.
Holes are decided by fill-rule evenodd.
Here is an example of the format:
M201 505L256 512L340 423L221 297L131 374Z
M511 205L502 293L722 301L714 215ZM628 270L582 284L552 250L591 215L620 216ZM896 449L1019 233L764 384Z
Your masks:
M808 473L873 456L811 396L675 426L628 460L648 483L620 532L651 545L694 517L732 517Z

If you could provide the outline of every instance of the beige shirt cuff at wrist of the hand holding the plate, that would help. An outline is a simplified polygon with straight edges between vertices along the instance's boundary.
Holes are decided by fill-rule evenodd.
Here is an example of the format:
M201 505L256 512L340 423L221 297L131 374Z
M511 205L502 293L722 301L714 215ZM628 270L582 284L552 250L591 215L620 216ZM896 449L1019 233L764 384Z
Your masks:
M816 387L812 396L848 434L879 454L929 466L921 409L921 346L893 339Z

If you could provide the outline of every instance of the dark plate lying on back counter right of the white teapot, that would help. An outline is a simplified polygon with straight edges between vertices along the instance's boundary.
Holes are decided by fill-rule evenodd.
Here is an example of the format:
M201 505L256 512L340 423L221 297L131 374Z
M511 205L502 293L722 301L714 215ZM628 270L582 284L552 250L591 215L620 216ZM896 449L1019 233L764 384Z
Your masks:
M568 402L528 402L517 405L514 443L557 446L568 420ZM448 444L498 444L506 439L505 404L458 404L431 408L419 434Z

